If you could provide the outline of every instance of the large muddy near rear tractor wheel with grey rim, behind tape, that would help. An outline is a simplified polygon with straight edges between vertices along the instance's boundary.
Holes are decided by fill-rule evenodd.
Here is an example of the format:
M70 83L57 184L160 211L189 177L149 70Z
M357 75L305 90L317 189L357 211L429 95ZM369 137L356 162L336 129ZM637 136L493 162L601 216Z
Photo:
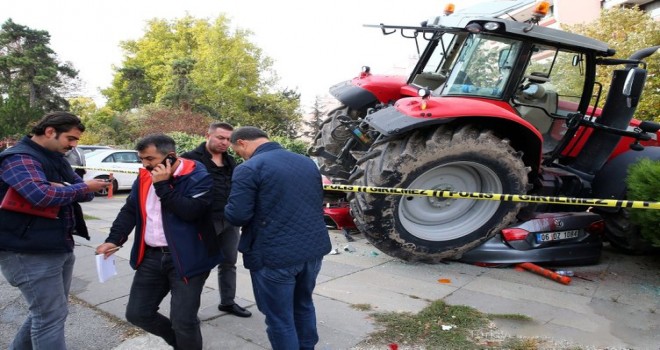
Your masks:
M358 186L522 194L528 168L507 140L476 126L439 126L374 146L358 160ZM461 255L516 218L521 204L355 193L352 214L388 255L435 263Z

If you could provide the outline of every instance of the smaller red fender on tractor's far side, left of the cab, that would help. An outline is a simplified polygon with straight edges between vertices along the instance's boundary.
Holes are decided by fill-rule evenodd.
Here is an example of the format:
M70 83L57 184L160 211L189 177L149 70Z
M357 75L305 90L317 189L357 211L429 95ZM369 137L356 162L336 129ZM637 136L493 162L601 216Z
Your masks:
M351 109L361 110L378 102L400 99L404 86L404 77L368 74L332 86L330 94Z

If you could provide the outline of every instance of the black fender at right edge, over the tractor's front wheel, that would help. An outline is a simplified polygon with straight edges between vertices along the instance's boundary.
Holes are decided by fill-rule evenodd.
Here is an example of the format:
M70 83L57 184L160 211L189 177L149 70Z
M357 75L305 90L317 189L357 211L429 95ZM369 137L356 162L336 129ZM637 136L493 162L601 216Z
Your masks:
M641 151L627 151L611 159L596 173L591 184L593 196L604 199L624 199L626 197L626 177L628 168L647 158L660 160L660 147L645 147ZM619 208L600 207L599 211L613 213Z

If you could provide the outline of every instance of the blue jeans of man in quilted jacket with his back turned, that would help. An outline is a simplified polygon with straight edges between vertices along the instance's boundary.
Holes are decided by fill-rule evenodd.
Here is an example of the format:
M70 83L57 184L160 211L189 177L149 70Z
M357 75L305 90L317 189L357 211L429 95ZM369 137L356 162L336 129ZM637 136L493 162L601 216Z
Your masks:
M250 271L257 308L273 350L314 349L319 341L312 293L323 259Z

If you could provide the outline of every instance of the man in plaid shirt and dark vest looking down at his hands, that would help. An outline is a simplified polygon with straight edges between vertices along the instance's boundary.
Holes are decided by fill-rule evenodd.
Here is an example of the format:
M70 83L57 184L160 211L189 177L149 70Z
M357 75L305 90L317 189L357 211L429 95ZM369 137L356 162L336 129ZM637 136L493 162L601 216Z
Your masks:
M78 144L85 126L67 112L46 114L32 136L0 153L0 199L15 191L31 206L59 207L55 219L0 209L0 268L21 290L30 313L11 349L66 349L64 324L73 274L73 236L89 240L78 202L108 186L83 182L64 153ZM20 197L19 197L20 198Z

